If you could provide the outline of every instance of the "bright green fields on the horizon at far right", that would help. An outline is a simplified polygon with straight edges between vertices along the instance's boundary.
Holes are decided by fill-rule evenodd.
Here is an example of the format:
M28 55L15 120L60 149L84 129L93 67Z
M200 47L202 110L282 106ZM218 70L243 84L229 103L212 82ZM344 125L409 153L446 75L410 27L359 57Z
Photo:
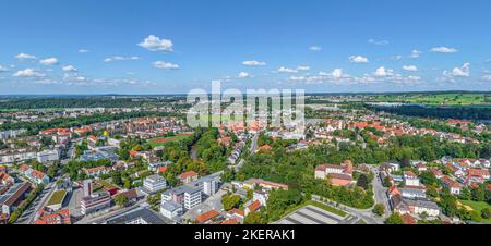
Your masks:
M491 94L406 94L378 95L375 101L410 102L429 106L480 106L491 103Z

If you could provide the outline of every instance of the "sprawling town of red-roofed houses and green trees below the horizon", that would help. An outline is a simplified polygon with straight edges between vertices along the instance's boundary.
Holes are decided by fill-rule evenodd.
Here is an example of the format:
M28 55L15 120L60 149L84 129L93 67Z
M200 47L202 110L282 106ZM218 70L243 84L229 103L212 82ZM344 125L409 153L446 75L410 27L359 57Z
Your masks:
M371 96L321 99L307 97L304 135L192 128L179 97L3 110L0 223L491 222L486 122L385 112Z

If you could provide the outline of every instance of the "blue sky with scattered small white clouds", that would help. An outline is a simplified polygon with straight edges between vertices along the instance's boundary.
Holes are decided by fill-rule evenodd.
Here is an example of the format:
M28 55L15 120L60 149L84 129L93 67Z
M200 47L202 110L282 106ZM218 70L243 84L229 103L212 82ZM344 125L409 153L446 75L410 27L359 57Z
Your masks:
M491 90L491 1L4 0L0 95Z

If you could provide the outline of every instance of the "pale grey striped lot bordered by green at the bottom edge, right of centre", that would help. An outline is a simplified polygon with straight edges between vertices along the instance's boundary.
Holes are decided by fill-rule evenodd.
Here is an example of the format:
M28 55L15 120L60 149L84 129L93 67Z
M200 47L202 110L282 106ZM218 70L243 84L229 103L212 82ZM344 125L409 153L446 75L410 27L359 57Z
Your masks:
M306 206L276 222L277 224L354 224L358 218L340 217L314 206Z

